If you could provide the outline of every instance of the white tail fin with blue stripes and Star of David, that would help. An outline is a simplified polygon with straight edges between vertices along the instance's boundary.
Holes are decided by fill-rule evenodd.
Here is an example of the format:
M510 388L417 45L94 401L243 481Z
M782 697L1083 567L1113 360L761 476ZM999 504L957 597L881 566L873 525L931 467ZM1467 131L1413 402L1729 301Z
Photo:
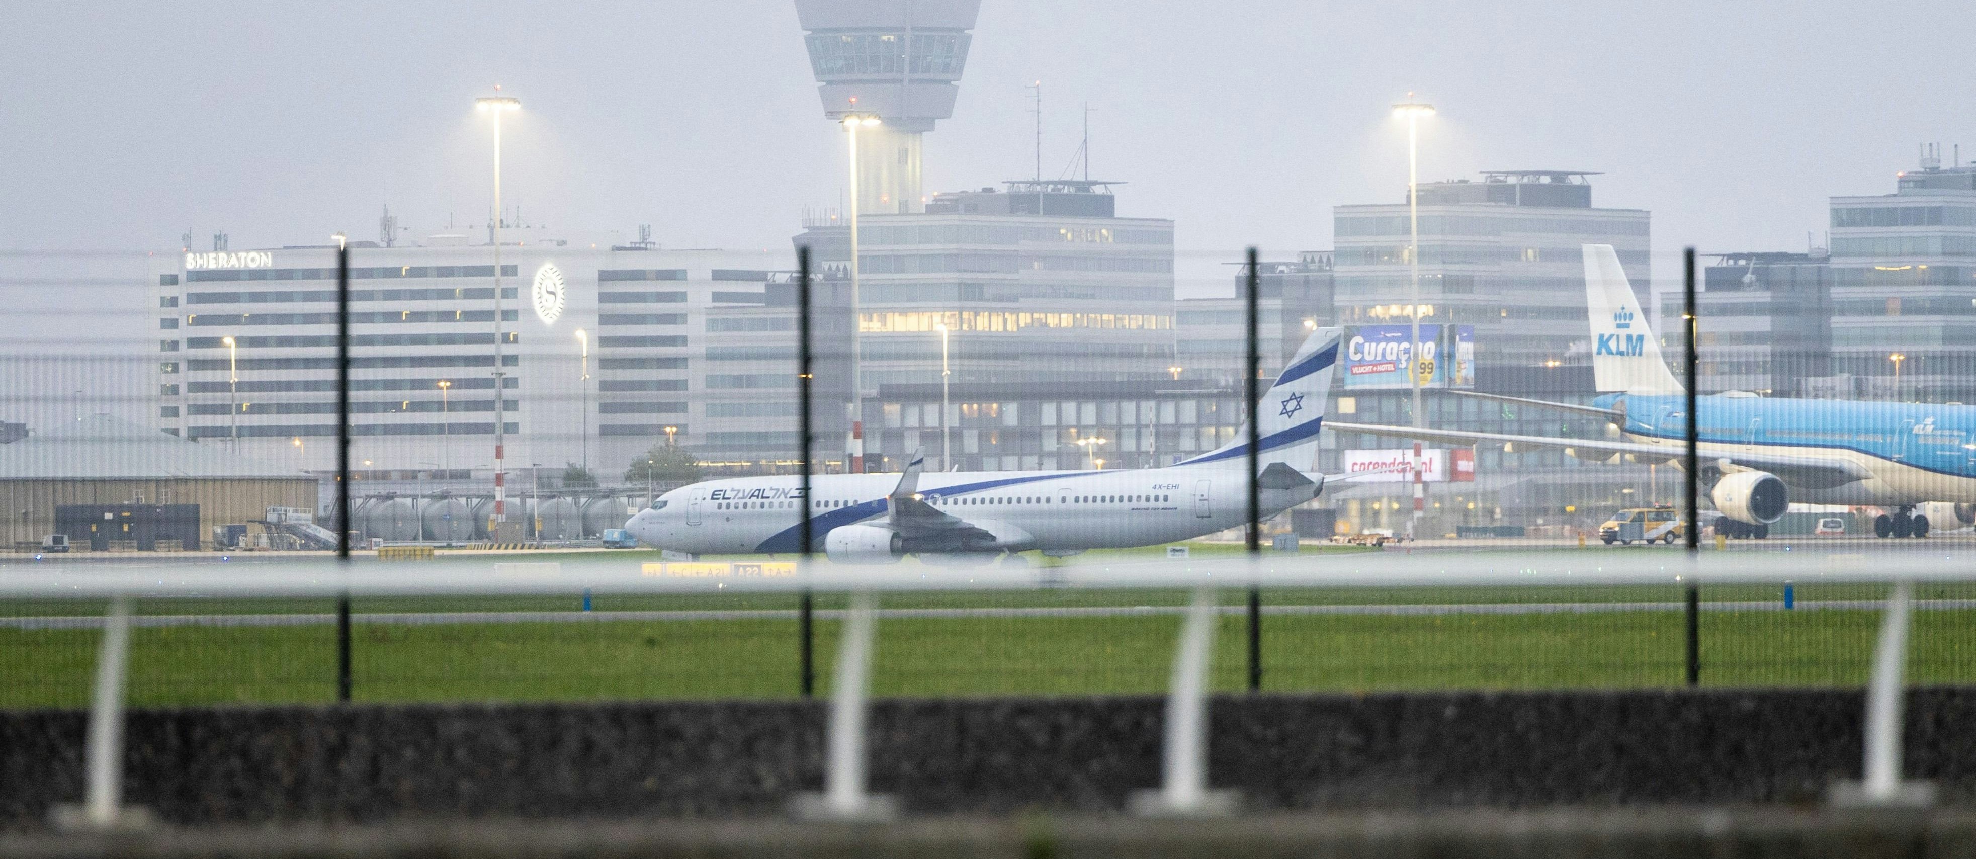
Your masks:
M1276 383L1257 401L1257 425L1263 438L1261 466L1282 462L1308 472L1318 458L1318 429L1324 425L1324 403L1332 391L1332 371L1338 367L1340 328L1318 328L1276 375ZM1249 425L1235 438L1211 452L1182 462L1217 462L1243 466L1249 460Z

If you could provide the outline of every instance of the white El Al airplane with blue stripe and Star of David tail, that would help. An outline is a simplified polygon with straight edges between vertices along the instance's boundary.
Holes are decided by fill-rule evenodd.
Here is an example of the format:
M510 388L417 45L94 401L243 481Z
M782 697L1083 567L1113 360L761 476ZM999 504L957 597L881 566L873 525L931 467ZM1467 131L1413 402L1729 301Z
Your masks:
M1316 460L1338 328L1320 328L1261 397L1261 511L1276 515L1324 488ZM1077 472L933 472L915 452L905 474L810 478L814 549L836 563L905 555L962 563L1039 549L1075 555L1192 539L1249 519L1249 430L1166 468ZM794 553L802 547L802 478L731 478L682 486L624 523L640 541L692 555Z

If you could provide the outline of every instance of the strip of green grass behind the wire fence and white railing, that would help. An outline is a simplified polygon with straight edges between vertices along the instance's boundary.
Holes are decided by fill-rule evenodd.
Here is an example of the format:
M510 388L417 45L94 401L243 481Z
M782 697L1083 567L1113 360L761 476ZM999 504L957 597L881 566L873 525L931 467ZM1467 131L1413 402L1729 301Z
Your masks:
M1806 586L1800 600L1877 598L1873 586ZM1919 598L1972 598L1929 586ZM1243 594L1225 592L1227 602ZM1769 588L1711 588L1709 600L1774 600ZM1178 606L1174 590L1029 590L891 594L887 608ZM1672 588L1423 588L1267 592L1284 604L1674 602ZM579 596L358 600L356 612L575 610ZM820 608L840 604L820 596ZM597 610L794 608L782 594L603 596ZM324 600L144 600L142 614L328 612ZM12 602L4 616L97 614L89 602ZM1682 683L1682 614L1269 614L1265 689L1551 689ZM1703 612L1709 685L1859 685L1879 612ZM873 691L895 697L1114 695L1166 689L1176 614L883 618ZM132 630L130 701L138 707L308 703L334 697L334 628L170 626ZM0 707L81 707L95 630L0 628ZM820 691L828 689L836 624L816 624ZM1976 610L1915 614L1909 677L1976 683ZM360 701L591 701L794 697L796 622L360 622ZM1227 616L1215 687L1241 689L1245 620Z

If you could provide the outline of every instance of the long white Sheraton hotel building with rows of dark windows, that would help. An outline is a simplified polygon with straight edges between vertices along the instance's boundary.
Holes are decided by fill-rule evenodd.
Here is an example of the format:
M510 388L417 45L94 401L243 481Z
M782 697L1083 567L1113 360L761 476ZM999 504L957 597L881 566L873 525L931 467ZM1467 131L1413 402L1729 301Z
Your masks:
M773 257L786 267L786 255ZM298 470L334 470L334 245L166 259L152 273L160 429ZM352 243L352 468L371 480L484 482L496 399L518 482L571 462L615 482L666 440L703 456L788 442L781 427L763 429L763 417L792 415L794 375L794 278L769 261L516 245L500 251L496 302L488 245ZM848 294L818 288L824 316L838 308L820 334L848 326L848 304L832 304L832 290ZM846 399L818 391L820 403L826 397ZM838 417L818 415L826 429Z

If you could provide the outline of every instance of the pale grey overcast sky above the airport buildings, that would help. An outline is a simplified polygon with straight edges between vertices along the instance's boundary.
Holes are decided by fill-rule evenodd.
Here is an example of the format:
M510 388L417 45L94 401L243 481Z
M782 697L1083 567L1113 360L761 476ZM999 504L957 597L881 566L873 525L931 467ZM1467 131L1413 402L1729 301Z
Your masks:
M0 247L233 247L484 221L498 81L524 113L508 195L573 229L782 251L836 205L788 0L642 4L22 4L0 32ZM1441 107L1423 180L1603 170L1599 205L1684 243L1802 249L1832 194L1885 194L1915 144L1970 124L1972 8L1952 2L986 0L927 188L1043 170L1091 101L1120 213L1172 217L1184 292L1247 243L1330 247L1336 203L1399 201L1409 89ZM1976 136L1970 136L1976 158ZM1946 152L1944 152L1946 154Z

